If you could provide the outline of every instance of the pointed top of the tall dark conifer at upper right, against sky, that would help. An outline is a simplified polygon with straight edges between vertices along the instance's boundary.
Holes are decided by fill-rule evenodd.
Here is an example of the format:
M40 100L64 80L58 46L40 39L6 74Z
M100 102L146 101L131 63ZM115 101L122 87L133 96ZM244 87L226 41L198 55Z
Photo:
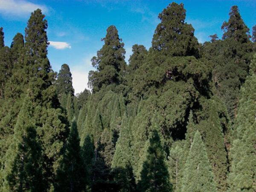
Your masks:
M239 13L238 6L232 6L230 9L230 18L228 22L224 21L221 29L224 31L222 39L234 38L236 41L245 43L249 41L249 28L245 25Z

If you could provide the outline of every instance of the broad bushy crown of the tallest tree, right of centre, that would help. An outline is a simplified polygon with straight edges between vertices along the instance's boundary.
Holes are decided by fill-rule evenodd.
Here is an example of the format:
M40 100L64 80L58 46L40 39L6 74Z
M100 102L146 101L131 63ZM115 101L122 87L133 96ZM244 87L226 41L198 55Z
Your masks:
M198 56L198 41L194 28L185 22L184 4L172 3L158 15L161 23L155 30L152 48L163 55Z

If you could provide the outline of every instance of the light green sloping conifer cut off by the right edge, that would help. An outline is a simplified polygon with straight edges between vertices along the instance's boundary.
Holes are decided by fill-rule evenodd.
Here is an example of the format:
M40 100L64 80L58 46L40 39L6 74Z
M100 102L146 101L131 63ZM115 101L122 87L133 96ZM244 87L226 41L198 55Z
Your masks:
M234 141L229 174L230 191L256 190L256 122L255 85L256 55L250 64L250 75L241 87L239 108L234 125Z

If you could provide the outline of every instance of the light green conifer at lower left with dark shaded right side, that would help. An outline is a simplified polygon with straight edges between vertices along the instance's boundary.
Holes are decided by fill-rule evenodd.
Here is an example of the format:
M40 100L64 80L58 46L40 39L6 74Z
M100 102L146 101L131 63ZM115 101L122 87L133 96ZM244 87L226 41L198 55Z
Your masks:
M26 97L6 152L3 191L46 191L43 183L41 146L37 140L34 106Z

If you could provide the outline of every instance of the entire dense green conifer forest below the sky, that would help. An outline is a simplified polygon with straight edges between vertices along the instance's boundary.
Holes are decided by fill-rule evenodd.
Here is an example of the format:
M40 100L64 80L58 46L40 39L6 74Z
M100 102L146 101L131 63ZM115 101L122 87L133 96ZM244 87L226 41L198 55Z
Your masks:
M0 28L0 192L256 191L256 25L232 6L201 44L183 3L158 18L128 64L109 26L76 95L40 9L10 47Z

